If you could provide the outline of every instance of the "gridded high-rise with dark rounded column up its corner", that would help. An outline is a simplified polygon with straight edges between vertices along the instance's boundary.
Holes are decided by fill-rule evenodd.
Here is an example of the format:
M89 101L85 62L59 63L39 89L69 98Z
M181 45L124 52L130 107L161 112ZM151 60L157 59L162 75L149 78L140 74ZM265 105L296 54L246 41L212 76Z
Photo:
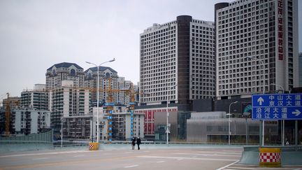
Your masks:
M141 102L178 103L188 110L190 100L215 97L214 22L178 16L153 24L140 35Z

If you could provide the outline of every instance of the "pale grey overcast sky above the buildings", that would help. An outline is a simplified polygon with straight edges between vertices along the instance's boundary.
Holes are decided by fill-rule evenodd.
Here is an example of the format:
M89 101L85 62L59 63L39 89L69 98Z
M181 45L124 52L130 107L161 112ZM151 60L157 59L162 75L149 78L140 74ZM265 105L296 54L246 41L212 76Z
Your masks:
M22 90L45 84L46 70L60 62L86 70L92 66L85 61L100 64L115 57L115 62L103 66L136 84L139 34L178 15L213 21L218 2L224 1L0 0L0 99L6 92L20 97Z

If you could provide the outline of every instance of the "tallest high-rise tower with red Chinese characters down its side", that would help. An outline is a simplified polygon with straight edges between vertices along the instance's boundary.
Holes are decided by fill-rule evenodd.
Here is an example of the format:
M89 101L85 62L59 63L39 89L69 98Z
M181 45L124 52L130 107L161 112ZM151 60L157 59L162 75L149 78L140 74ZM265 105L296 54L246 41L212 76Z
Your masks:
M297 6L297 0L215 5L218 99L299 85Z

